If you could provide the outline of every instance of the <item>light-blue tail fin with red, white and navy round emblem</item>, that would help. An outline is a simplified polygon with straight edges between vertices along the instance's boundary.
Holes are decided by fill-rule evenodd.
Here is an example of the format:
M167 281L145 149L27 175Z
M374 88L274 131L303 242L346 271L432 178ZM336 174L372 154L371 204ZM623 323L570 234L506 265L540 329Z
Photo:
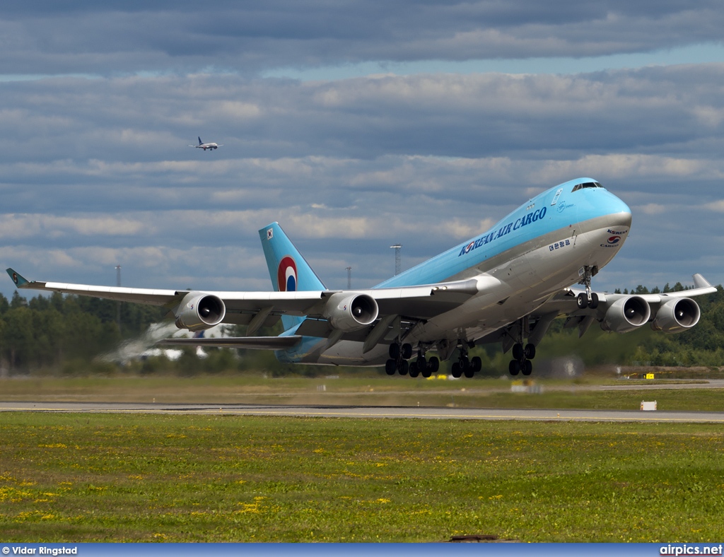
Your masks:
M269 268L271 286L274 286L274 290L277 292L326 290L279 223L274 222L260 229L259 239L261 247L264 248L266 266ZM303 320L302 317L282 315L285 331L297 326Z

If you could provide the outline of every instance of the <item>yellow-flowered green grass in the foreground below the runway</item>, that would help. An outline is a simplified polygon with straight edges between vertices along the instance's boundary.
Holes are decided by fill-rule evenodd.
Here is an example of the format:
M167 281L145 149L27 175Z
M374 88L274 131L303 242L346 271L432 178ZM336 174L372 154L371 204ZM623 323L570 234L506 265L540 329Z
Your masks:
M0 540L715 542L718 425L0 414Z

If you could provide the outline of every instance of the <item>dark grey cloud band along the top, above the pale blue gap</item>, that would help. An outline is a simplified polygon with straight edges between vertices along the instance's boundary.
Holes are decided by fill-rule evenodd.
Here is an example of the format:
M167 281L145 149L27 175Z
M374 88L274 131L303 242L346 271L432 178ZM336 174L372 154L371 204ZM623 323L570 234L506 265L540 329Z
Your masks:
M719 43L723 24L716 0L11 1L0 19L0 73L602 56Z

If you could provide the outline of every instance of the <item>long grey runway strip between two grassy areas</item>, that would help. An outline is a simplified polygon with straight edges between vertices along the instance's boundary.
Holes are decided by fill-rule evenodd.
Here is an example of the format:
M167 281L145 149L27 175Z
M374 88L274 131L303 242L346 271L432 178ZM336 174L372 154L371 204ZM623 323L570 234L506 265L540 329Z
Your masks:
M254 416L407 418L418 420L529 420L586 422L724 422L724 412L492 409L451 407L287 406L277 404L158 404L114 402L0 402L0 412L117 414L237 414Z

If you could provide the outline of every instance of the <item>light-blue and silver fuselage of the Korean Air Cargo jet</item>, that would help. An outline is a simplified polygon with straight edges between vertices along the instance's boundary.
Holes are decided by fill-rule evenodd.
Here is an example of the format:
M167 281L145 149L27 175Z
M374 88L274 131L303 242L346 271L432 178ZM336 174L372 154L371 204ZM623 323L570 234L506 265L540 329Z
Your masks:
M576 179L536 195L488 231L375 288L475 279L479 294L454 310L417 323L405 342L416 346L481 339L578 283L584 267L607 265L630 227L626 203L593 179ZM277 357L333 365L383 365L388 358L387 344L363 353L361 342L340 341L325 349L327 342L304 337L294 349L277 352Z

